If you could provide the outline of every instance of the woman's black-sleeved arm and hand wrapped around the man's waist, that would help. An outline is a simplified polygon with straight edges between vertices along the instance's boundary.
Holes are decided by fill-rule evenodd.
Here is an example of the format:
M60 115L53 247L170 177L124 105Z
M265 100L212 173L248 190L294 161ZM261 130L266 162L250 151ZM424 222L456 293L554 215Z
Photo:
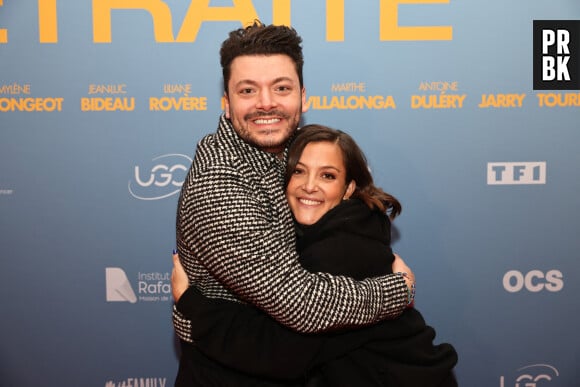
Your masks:
M403 324L402 332L389 323L328 334L294 332L261 310L247 304L207 298L189 286L177 254L173 256L174 308L195 322L192 341L206 355L227 367L254 376L297 379L316 366L349 353L371 340L392 340L418 327ZM405 319L403 319L405 320ZM402 322L402 321L401 321ZM399 325L399 324L395 324Z

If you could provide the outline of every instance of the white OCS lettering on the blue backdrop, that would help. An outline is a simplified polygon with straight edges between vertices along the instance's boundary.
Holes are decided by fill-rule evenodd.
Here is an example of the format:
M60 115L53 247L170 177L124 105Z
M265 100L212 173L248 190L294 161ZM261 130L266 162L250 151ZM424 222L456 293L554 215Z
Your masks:
M503 276L503 287L510 293L516 293L526 288L530 292L559 292L564 287L564 279L560 270L550 270L546 273L532 270L523 274L517 270L510 270Z

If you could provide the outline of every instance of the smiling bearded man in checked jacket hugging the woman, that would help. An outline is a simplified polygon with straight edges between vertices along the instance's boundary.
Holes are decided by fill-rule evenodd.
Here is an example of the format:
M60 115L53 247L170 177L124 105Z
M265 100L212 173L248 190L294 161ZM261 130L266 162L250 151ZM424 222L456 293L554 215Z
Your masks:
M306 111L301 42L290 27L254 23L223 43L225 114L198 144L183 184L177 246L190 283L205 296L251 303L293 330L315 333L397 317L412 279L359 282L308 273L298 263L283 175L287 143ZM195 305L186 291L174 308L182 344L176 385L242 377L223 376L219 359L198 351L187 308Z

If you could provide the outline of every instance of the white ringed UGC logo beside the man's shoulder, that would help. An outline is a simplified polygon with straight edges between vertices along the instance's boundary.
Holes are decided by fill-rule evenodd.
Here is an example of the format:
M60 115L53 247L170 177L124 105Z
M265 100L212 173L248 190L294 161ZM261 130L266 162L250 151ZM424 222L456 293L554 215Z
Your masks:
M147 166L135 166L129 193L139 200L160 200L179 192L192 159L182 154L155 157Z

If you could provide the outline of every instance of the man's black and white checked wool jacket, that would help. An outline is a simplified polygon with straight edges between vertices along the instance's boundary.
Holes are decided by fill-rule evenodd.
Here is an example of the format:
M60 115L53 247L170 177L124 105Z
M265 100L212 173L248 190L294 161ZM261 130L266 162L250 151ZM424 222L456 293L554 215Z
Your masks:
M190 284L207 297L252 303L298 332L402 313L399 275L358 282L300 266L283 176L283 160L244 142L221 116L199 142L179 198L177 247ZM173 322L192 342L191 322L176 307Z

